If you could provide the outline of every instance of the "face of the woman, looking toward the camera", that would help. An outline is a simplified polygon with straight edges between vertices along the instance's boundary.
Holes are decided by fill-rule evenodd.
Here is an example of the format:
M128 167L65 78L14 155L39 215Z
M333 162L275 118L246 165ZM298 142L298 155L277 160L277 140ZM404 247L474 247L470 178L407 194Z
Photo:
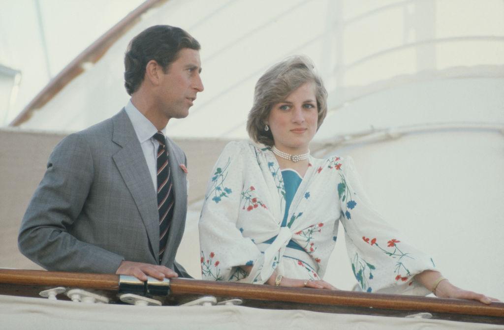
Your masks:
M308 82L275 104L267 123L279 150L300 154L308 151L308 145L317 133L317 120L315 85Z

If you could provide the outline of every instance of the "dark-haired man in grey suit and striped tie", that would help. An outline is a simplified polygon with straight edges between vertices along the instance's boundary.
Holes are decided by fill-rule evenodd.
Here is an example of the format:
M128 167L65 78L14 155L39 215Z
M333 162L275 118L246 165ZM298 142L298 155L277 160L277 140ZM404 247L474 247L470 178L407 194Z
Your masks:
M131 100L55 147L21 224L24 255L50 271L142 281L188 276L175 261L187 212L185 154L154 136L171 118L186 117L203 91L199 49L187 32L166 25L130 42L124 80ZM166 185L158 182L160 155L168 161ZM166 200L167 211L158 211Z

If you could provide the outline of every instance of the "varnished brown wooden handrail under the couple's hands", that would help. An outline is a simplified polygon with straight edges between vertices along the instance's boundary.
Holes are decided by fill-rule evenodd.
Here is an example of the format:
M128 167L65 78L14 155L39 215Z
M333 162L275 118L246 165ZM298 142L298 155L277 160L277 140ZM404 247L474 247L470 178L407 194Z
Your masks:
M37 296L40 290L56 286L103 290L115 294L119 290L119 276L0 269L0 294ZM268 285L178 278L171 279L169 287L169 299L174 302L196 295L212 295L241 298L246 302L245 305L254 307L392 316L429 312L438 318L504 324L504 303L500 302L485 305L459 299L310 288L277 288Z

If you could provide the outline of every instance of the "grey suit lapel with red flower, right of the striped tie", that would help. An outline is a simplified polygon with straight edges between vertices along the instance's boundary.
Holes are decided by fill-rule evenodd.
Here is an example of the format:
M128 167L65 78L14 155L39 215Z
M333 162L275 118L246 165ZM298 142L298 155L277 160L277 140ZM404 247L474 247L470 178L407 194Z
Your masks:
M170 230L168 232L168 243L166 252L163 254L161 265L171 265L175 259L173 251L180 244L182 233L185 227L185 215L187 213L187 181L186 174L180 168L180 164L184 164L184 159L181 155L175 153L173 142L166 139L168 146L168 163L171 171L171 180L173 182L173 191L175 194L175 204L173 209L173 218L171 220ZM169 261L169 262L167 262Z

